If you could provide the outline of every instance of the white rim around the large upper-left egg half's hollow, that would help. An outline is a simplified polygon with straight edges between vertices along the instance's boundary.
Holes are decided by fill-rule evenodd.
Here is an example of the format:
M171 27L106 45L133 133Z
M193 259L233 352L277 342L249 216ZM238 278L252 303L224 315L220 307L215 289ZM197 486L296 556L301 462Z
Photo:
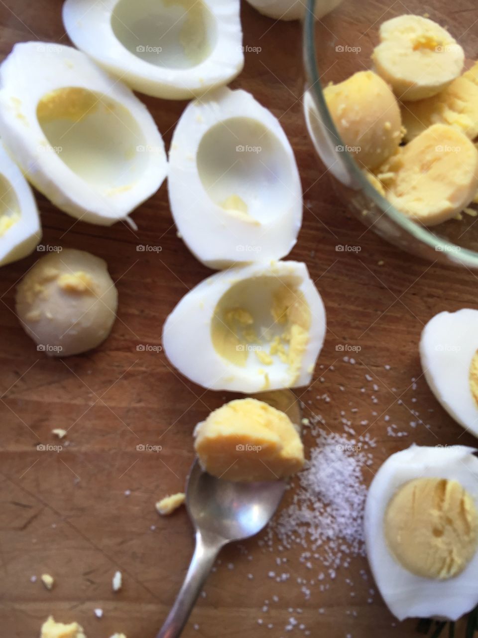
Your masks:
M136 122L138 133L127 132L124 123L112 114L118 139L127 133L136 142L134 162L127 167L131 179L127 188L92 186L48 144L36 115L38 102L45 94L68 87L105 96L126 108ZM0 66L0 135L27 179L43 195L62 211L91 223L109 226L125 218L157 191L166 176L163 139L145 105L126 85L72 47L41 42L13 47Z

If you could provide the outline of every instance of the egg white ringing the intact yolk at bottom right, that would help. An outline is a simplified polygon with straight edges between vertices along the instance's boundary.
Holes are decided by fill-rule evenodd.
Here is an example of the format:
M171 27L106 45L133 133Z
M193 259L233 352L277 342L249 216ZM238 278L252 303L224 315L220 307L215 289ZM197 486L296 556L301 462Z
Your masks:
M435 616L456 620L478 603L478 552L454 578L444 581L416 576L393 558L384 535L384 516L396 490L421 477L457 480L478 507L476 450L463 445L420 447L392 454L375 474L365 505L368 562L382 598L396 618Z

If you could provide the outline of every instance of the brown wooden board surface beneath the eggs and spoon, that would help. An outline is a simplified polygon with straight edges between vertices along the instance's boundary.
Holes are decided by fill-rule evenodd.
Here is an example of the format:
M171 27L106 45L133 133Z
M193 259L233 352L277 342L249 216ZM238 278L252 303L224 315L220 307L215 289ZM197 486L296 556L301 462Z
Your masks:
M477 276L405 255L352 218L315 158L303 123L300 26L275 24L245 3L242 19L245 44L261 51L246 53L245 69L233 86L252 92L270 108L294 147L305 209L290 256L307 262L328 313L319 359L324 367L317 367L310 388L296 392L305 401L305 416L319 413L328 428L342 432L344 410L358 431L375 437L366 483L389 454L413 441L474 445L474 438L431 396L421 376L417 344L424 323L435 313L477 308ZM0 24L2 56L16 41L68 43L60 0L5 0L0 2ZM169 145L185 103L141 99ZM210 271L178 239L166 184L134 212L138 232L124 223L103 228L75 221L37 195L42 243L105 258L119 290L119 313L110 338L98 350L48 359L36 351L14 311L15 286L39 253L1 271L0 635L33 638L48 614L54 614L58 620L78 620L89 638L108 638L114 632L154 638L192 552L185 510L160 518L154 503L182 489L193 458L192 429L229 395L201 389L172 369L163 352L138 352L136 346L161 344L168 313ZM161 252L138 252L138 244L161 246ZM359 251L340 252L338 244L358 246ZM337 346L343 344L361 348L355 365L342 360ZM370 389L366 374L379 386L377 392ZM366 392L361 392L364 386ZM316 398L325 392L329 403ZM358 412L351 414L351 406ZM389 436L385 415L407 436ZM368 426L359 426L361 420L368 420ZM409 426L410 420L417 420L416 428ZM54 427L68 429L68 447L39 451L39 443L58 443L51 434ZM138 452L136 446L145 443L161 445L161 454ZM373 582L365 558L352 560L349 568L338 571L330 589L312 588L305 600L296 580L311 575L299 561L300 551L286 556L291 578L277 584L268 577L276 555L256 538L242 549L226 549L185 638L304 635L298 627L286 632L291 615L313 638L415 634L416 622L395 623L378 594L367 602ZM117 569L124 586L112 593ZM52 591L30 581L44 572L55 577ZM266 600L268 610L263 611ZM102 619L94 616L96 607L103 609Z

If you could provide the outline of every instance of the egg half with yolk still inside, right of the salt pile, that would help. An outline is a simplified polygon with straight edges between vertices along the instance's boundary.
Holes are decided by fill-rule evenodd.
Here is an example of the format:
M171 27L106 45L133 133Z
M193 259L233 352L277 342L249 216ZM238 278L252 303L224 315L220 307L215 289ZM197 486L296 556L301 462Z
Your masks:
M478 459L419 447L380 467L365 506L366 551L395 616L456 620L478 603Z

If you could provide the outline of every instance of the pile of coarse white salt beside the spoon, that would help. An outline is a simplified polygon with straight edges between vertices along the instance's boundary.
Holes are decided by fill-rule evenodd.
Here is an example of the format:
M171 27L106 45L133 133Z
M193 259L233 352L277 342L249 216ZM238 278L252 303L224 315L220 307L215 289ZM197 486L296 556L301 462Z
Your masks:
M375 441L368 434L328 432L320 423L321 417L303 420L314 437L310 458L296 479L293 502L272 521L265 543L280 550L301 545L301 562L312 567L318 561L334 578L340 565L348 567L350 558L365 554L363 470L373 463L367 450Z

